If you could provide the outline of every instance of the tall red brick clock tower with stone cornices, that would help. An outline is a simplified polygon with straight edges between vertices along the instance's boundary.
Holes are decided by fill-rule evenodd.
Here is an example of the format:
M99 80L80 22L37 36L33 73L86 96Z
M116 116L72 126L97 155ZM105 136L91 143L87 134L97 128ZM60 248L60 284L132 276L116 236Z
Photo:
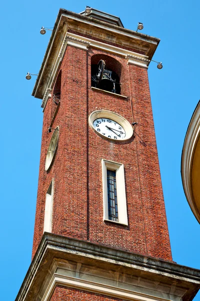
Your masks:
M188 301L198 291L199 271L171 257L147 77L158 43L91 8L59 11L32 94L43 129L17 301Z

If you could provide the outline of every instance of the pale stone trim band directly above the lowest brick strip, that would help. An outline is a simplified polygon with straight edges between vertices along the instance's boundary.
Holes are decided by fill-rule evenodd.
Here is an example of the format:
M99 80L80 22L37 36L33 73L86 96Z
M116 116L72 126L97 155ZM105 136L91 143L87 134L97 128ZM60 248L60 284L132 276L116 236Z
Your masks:
M131 291L128 289L113 287L110 285L88 281L85 279L74 278L66 275L59 275L54 273L41 301L48 301L55 289L56 285L63 285L77 289L83 289L95 293L104 294L106 296L113 296L131 301L172 301L172 299L160 298L149 294Z

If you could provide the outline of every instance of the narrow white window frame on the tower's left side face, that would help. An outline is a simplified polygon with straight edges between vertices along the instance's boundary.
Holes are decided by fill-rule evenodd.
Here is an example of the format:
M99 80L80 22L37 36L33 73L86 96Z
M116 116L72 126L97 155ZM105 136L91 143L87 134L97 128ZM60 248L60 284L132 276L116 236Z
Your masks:
M46 192L43 232L51 233L52 230L53 191L54 179L52 179Z

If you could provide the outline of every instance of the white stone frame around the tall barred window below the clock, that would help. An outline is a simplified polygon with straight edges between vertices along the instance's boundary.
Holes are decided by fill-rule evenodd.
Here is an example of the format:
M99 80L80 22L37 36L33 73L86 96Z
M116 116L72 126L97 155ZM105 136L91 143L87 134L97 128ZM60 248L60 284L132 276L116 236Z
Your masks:
M101 160L102 165L102 191L103 191L103 221L128 225L126 197L125 197L125 179L123 164ZM108 200L107 200L107 169L116 172L116 195L118 208L118 222L108 218Z

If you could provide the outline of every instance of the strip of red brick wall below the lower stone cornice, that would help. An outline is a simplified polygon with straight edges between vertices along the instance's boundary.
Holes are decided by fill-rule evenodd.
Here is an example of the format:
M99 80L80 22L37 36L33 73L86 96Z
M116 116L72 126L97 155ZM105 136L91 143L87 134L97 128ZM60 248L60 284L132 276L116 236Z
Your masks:
M57 285L53 291L50 301L123 301L119 298L108 297L94 292L84 291L76 288L68 288Z

